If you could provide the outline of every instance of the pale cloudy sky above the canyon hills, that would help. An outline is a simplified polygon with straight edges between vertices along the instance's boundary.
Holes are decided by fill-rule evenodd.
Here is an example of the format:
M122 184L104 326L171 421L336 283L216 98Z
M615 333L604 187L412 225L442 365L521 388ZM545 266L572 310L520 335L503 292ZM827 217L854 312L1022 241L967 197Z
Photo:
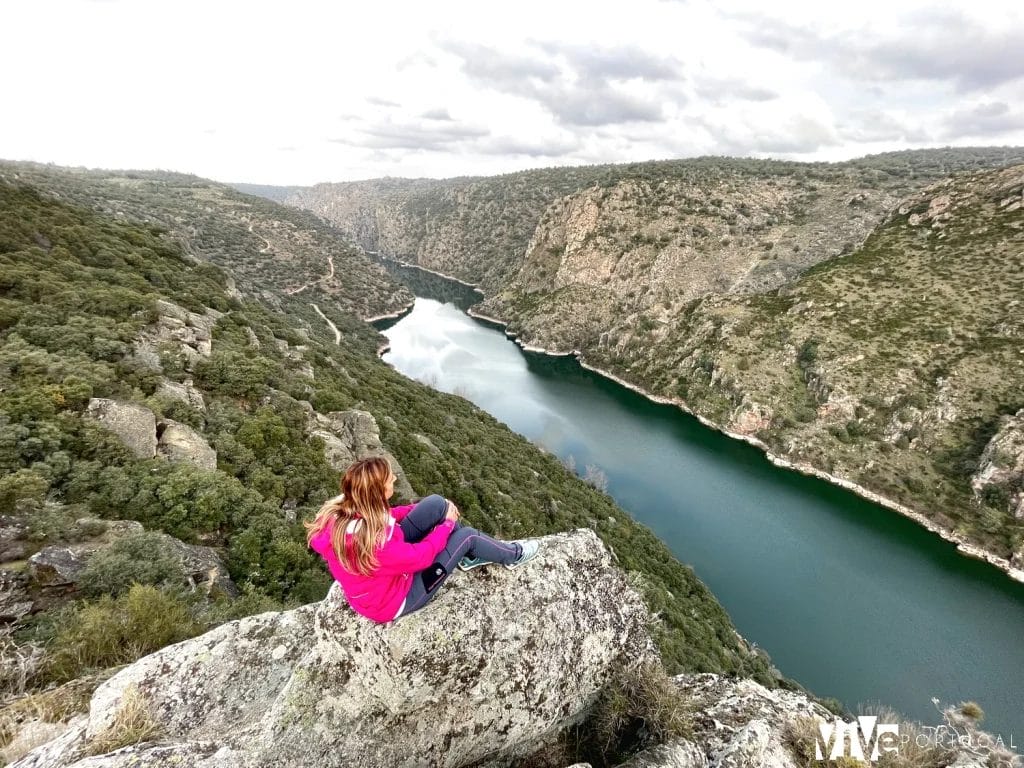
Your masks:
M1024 3L4 0L0 158L308 184L1024 144Z

